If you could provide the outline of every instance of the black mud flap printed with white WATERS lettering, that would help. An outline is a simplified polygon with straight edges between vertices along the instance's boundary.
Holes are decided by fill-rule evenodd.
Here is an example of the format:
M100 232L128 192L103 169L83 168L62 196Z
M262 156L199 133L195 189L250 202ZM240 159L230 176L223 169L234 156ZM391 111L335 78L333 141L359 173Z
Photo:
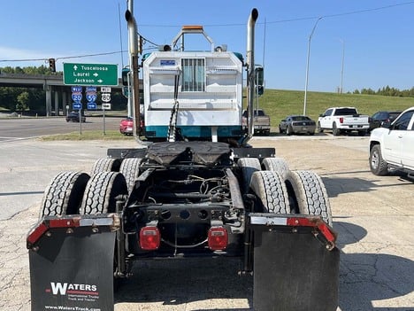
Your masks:
M116 232L103 220L50 218L29 233L32 310L114 309Z

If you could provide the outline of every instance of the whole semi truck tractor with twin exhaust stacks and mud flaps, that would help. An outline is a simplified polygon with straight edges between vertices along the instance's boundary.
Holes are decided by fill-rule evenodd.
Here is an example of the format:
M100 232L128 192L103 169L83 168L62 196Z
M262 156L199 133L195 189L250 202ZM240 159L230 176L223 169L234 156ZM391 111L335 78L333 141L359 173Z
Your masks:
M196 256L240 258L255 310L336 310L340 252L322 179L249 144L257 18L253 9L245 58L202 26L141 57L126 11L137 147L51 180L27 234L32 310L113 310L114 281L134 262ZM211 49L186 50L187 35Z

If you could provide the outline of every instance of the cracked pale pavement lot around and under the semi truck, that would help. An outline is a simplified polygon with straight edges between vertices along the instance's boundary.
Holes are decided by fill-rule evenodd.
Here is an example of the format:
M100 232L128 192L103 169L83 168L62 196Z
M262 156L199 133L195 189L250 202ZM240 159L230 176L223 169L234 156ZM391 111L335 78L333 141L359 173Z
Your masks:
M368 166L368 137L255 137L291 169L310 169L326 183L341 249L338 310L414 310L414 183L379 177ZM0 144L0 309L30 310L26 235L42 191L61 170L89 171L107 147L131 143ZM116 294L115 310L251 310L252 282L238 260L140 262Z

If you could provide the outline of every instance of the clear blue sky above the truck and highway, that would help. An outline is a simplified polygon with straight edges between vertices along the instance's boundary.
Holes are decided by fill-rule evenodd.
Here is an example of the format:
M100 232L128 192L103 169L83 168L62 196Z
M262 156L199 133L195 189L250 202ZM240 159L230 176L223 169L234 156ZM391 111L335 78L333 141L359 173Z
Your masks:
M255 60L265 66L268 89L304 89L309 37L318 17L308 90L334 92L341 78L345 92L414 86L414 1L134 0L134 16L138 32L150 42L145 51L152 43L171 43L182 25L203 25L216 45L226 43L229 51L245 55L254 7ZM126 66L127 53L119 52L128 47L125 10L126 0L3 0L0 67L47 66L42 60L4 61L39 58L58 58L59 71L63 62ZM102 53L111 54L68 58Z

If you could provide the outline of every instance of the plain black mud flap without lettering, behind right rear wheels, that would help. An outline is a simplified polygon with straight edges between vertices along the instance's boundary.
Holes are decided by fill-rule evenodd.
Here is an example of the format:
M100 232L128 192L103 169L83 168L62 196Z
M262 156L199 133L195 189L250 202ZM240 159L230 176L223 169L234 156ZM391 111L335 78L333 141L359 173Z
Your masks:
M250 226L254 236L254 309L335 311L340 252L324 237L322 231L328 226L319 219L316 224L315 219L298 218L315 226L295 226L292 219L286 224L286 217L275 219Z

